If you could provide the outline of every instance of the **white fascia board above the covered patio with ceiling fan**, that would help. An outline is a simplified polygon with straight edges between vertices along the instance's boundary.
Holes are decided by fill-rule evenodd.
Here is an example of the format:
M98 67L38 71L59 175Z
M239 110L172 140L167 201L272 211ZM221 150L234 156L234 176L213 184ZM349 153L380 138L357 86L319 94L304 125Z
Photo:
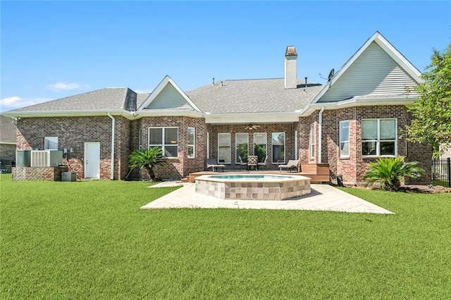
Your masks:
M299 121L299 113L206 113L204 118L209 124L291 123Z

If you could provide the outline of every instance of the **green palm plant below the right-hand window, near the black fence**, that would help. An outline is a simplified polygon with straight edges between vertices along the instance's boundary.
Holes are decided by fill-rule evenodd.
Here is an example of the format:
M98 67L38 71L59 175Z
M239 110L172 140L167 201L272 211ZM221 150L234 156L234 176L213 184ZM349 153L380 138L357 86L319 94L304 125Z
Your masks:
M403 157L378 158L376 163L369 163L369 170L364 175L368 180L366 185L380 182L387 191L399 191L402 177L418 178L424 174L422 168L417 167L417 161L404 163Z

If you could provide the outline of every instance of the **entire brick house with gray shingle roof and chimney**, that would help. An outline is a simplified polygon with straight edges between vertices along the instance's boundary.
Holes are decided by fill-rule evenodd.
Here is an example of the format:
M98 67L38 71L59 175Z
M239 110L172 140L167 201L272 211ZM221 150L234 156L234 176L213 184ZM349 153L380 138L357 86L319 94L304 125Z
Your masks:
M239 156L268 156L280 163L328 163L330 180L358 184L370 161L405 156L419 161L429 183L431 149L402 135L412 120L407 106L418 96L406 87L420 73L379 32L326 84L297 79L297 51L285 51L285 76L223 80L183 92L166 76L150 94L106 88L8 111L17 118L18 149L67 149L78 177L125 179L135 149L159 146L161 178L180 178L217 158L240 168ZM140 176L132 174L132 177Z

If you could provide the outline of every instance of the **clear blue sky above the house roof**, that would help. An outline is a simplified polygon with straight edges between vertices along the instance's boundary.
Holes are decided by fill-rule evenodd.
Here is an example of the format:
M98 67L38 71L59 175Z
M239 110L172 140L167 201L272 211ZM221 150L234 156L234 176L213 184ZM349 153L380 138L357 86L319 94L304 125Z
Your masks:
M451 1L1 1L0 111L89 92L215 80L324 83L379 31L416 68L451 40Z

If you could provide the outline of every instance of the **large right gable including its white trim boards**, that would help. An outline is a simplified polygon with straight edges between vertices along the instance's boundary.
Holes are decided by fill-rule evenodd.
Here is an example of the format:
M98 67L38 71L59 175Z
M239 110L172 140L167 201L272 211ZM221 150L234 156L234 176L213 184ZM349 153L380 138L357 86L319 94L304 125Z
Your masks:
M386 94L388 99L405 98L404 86L417 85L421 82L420 75L419 70L376 31L311 103L341 101L370 94ZM416 97L416 94L412 96Z

